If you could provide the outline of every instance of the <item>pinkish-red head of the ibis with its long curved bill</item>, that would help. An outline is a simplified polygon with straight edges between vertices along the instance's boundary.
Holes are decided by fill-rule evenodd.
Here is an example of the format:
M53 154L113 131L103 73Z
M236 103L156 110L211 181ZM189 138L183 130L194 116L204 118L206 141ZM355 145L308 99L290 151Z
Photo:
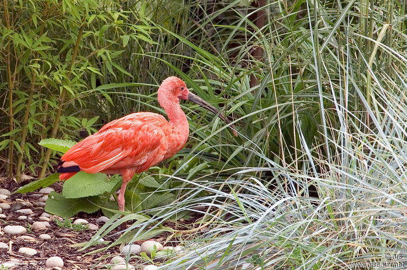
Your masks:
M230 123L229 119L221 114L218 109L210 105L199 96L191 93L188 90L185 82L175 76L168 77L161 83L160 87L158 88L157 95L158 102L164 109L174 106L175 104L179 104L181 99L186 99L207 109L215 115L218 115L219 118L226 122L226 124ZM238 133L234 129L233 125L230 125L229 127L232 129L234 136L238 136Z

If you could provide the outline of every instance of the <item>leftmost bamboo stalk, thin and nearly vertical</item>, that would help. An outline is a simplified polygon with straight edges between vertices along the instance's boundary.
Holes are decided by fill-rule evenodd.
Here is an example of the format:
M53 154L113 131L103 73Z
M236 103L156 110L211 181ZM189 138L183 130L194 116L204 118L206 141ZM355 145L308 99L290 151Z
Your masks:
M4 4L4 17L6 20L6 27L10 30L10 21L9 21L9 9L7 0L3 1ZM14 130L14 118L13 118L13 80L11 79L11 63L10 63L10 37L9 43L7 45L7 79L8 79L8 86L9 86L9 131ZM13 177L13 152L14 152L14 143L13 143L13 135L10 134L10 144L9 144L9 177Z

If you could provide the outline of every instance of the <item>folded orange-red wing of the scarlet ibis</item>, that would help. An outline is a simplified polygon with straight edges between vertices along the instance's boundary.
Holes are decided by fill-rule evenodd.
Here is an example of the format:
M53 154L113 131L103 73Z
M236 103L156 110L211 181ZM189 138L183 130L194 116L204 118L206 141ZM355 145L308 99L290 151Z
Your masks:
M130 114L107 123L97 133L77 143L61 160L73 161L86 173L140 166L148 161L146 156L149 154L166 151L170 132L168 122L159 114Z

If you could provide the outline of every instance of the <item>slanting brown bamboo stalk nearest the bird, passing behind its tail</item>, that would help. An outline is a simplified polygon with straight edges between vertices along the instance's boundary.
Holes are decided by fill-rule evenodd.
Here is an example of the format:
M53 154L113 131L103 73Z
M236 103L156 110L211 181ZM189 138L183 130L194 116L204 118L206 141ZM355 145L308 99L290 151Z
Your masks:
M83 16L82 24L81 24L81 26L79 28L78 37L76 38L76 44L75 44L75 47L74 47L73 53L72 53L71 69L70 69L70 71L69 71L69 73L67 75L68 80L71 78L73 65L74 65L75 60L76 60L76 55L78 54L79 43L80 43L80 39L82 37L83 27L85 26L85 24L84 24L85 19L86 19L86 16ZM62 114L62 108L64 106L65 95L66 95L66 89L63 88L62 92L61 92L61 95L60 95L60 102L59 102L58 110L56 111L54 126L53 126L52 131L51 131L51 138L52 139L54 139L56 137L56 132L58 131L58 128L60 126L60 117L61 117L61 114ZM52 150L48 148L47 151L45 152L45 159L44 159L44 164L42 165L40 179L44 178L45 172L47 171L48 161L49 161L49 157L51 156L51 151Z

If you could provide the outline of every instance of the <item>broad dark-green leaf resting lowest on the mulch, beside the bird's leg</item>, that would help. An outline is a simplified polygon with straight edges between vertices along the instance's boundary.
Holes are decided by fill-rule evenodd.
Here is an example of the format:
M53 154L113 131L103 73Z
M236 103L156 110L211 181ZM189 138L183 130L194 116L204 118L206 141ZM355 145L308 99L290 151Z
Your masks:
M79 212L94 213L100 209L98 196L85 198L65 198L64 195L51 191L45 205L45 211L63 218L69 218Z

